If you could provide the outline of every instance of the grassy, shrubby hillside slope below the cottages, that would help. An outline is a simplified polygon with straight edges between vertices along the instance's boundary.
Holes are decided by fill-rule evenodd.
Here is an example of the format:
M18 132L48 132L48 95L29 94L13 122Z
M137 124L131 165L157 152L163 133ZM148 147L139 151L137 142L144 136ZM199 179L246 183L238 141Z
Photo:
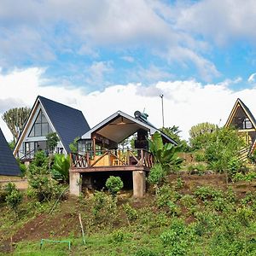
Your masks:
M0 237L25 237L16 243L14 255L80 255L84 250L87 255L255 255L256 192L237 195L232 189L200 186L188 194L185 184L177 186L180 179L160 186L157 195L149 194L139 204L125 197L115 201L98 191L61 201L49 214L53 202L49 206L26 199L17 220L2 204ZM32 224L38 228L31 230ZM71 252L67 245L51 243L40 250L41 236L71 241Z

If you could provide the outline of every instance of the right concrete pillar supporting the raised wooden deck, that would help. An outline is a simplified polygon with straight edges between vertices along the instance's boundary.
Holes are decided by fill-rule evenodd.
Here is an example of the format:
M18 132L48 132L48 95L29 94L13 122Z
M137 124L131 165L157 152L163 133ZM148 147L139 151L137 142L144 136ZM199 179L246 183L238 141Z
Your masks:
M143 197L146 193L146 173L144 171L133 171L133 196L137 198Z

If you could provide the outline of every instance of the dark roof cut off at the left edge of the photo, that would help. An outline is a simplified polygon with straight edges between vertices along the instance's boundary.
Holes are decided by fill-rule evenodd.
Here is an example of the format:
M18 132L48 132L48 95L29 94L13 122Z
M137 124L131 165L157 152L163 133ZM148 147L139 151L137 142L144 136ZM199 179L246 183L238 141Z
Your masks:
M0 129L0 175L20 176L20 167Z

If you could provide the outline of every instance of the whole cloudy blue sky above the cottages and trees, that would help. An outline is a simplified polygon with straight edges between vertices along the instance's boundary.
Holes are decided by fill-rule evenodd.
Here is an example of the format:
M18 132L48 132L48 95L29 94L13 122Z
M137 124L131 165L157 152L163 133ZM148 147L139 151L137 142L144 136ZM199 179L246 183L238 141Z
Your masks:
M90 127L118 110L161 127L164 95L184 139L237 97L256 115L255 24L254 0L1 0L0 115L41 95Z

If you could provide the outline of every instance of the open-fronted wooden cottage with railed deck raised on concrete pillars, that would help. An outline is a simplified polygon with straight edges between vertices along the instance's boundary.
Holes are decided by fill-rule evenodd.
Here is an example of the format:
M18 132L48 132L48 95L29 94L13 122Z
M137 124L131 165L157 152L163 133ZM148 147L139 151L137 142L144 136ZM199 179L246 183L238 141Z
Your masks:
M177 145L147 118L147 114L139 111L135 112L135 117L118 111L85 132L78 142L79 154L71 154L71 194L80 194L81 177L84 185L90 188L99 180L104 185L106 179L114 175L122 176L124 183L130 181L135 196L143 196L145 177L153 165L153 155L148 152L148 137L159 131L165 143ZM120 149L119 143L134 134L134 149Z

